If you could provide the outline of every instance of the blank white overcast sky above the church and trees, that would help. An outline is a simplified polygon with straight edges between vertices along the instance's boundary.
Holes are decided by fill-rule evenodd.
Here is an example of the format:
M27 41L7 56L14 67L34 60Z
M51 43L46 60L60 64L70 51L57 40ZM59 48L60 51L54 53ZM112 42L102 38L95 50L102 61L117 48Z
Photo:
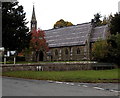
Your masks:
M90 22L94 14L102 16L118 12L120 0L18 0L26 12L28 27L32 17L33 3L37 28L52 29L56 21L64 19L74 25Z

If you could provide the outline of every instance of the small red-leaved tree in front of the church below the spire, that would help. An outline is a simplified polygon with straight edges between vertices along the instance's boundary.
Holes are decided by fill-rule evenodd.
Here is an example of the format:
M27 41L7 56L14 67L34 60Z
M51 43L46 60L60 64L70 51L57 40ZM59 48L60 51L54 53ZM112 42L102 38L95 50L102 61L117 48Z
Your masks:
M43 30L33 30L31 32L32 34L32 39L30 41L30 48L35 51L36 55L36 61L39 59L39 52L40 51L45 51L47 52L49 50L48 45L45 40L45 32Z

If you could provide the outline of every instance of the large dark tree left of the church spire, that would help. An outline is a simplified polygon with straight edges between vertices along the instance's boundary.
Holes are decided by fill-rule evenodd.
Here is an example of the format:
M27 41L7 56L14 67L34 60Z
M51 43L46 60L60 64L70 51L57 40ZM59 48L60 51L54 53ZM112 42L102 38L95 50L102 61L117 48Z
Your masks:
M21 52L29 47L31 35L26 26L26 13L18 2L2 3L2 45L6 50Z

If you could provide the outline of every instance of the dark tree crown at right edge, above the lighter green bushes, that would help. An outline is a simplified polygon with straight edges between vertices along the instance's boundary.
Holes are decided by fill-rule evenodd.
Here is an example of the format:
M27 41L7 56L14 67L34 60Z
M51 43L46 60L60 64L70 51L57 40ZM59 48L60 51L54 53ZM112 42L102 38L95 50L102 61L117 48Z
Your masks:
M116 13L110 21L110 33L120 34L120 13Z

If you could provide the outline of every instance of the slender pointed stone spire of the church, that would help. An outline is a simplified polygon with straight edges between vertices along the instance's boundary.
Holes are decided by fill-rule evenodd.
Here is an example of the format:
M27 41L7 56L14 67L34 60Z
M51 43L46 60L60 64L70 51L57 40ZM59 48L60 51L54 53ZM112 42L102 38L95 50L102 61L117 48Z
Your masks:
M33 12L32 12L32 18L31 18L31 31L34 29L35 30L37 29L37 20L36 20L36 16L35 16L35 8L33 5Z

